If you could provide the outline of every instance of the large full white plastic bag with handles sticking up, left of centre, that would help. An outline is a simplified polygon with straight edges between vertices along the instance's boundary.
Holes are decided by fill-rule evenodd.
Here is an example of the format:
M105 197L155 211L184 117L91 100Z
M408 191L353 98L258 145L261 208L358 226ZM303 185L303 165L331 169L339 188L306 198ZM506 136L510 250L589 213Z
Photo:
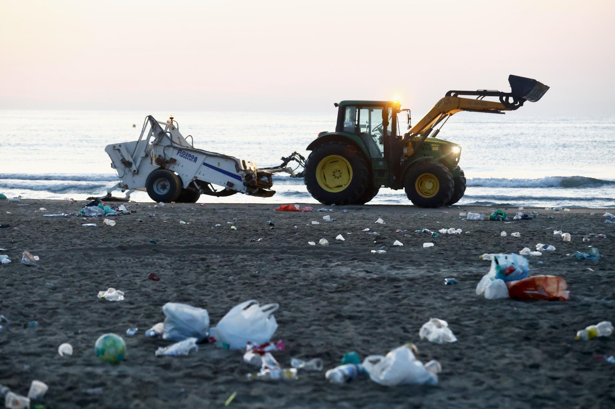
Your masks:
M213 330L216 345L229 349L245 349L248 342L263 345L276 332L277 322L273 316L279 304L261 306L249 300L231 308ZM166 328L165 328L166 331Z

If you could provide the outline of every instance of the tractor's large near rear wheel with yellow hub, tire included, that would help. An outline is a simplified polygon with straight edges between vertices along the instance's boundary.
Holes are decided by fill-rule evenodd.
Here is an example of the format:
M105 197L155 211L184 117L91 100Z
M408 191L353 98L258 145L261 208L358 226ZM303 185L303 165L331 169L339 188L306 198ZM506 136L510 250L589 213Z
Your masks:
M370 169L363 154L344 142L327 142L308 157L304 180L308 192L323 204L358 203L371 189Z

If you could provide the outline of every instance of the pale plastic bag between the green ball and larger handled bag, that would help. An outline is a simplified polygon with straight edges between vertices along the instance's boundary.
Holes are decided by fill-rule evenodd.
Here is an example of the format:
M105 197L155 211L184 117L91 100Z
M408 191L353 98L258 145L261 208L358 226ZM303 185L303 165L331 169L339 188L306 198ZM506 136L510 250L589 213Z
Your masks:
M209 335L209 314L204 308L188 304L166 303L162 306L165 315L165 340L183 341L194 337L200 342Z

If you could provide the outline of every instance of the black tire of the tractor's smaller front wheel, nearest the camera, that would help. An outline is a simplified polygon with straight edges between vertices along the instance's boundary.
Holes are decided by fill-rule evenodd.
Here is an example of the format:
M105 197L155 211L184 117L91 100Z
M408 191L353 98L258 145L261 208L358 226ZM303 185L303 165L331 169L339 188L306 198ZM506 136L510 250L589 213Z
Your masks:
M434 182L430 182L429 179L437 179L436 187L433 187ZM424 182L426 181L427 182ZM419 185L423 185L426 192L433 187L435 189L432 193L420 193ZM408 199L412 201L415 206L421 208L440 208L445 206L451 197L454 190L453 176L446 169L446 166L437 162L421 162L406 174L404 181L404 190Z

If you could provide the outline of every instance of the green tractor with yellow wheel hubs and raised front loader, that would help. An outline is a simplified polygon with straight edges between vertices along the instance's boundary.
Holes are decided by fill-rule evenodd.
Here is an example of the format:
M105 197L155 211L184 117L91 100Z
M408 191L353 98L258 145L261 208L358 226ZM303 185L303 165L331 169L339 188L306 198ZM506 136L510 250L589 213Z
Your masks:
M307 147L312 151L304 170L308 192L323 204L365 204L381 187L390 187L403 188L422 208L457 203L466 191L466 177L459 168L461 147L435 136L456 112L504 114L525 101L538 101L549 90L525 77L511 75L509 83L509 93L449 91L414 127L410 110L402 109L399 101L336 103L335 132L319 133ZM487 101L487 96L499 101Z

